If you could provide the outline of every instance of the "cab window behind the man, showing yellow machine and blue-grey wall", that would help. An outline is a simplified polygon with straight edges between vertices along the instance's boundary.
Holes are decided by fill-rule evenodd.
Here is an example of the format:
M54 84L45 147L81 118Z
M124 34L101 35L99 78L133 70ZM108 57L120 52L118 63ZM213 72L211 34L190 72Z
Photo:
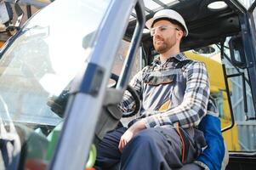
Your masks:
M230 40L230 38L227 38ZM219 46L219 44L218 44ZM245 116L253 117L255 115L253 107L253 96L251 88L246 82L246 98L247 98L247 113L244 111L243 99L243 87L242 77L230 77L228 78L228 87L230 90L231 108L228 101L228 93L226 92L224 71L222 70L222 63L225 64L227 75L237 74L238 71L243 72L246 79L247 70L235 68L230 63L230 48L225 48L225 54L228 59L220 59L219 48L216 45L212 45L211 48L196 48L193 51L185 52L186 56L191 59L202 61L206 64L208 70L208 77L210 82L211 96L215 100L219 111L219 119L221 121L221 127L230 126L230 109L232 109L235 116L235 125L225 133L222 133L228 150L230 151L255 151L256 140L252 135L256 132L256 123L254 121L246 120ZM220 47L220 46L219 46ZM225 47L228 47L228 43L225 42Z

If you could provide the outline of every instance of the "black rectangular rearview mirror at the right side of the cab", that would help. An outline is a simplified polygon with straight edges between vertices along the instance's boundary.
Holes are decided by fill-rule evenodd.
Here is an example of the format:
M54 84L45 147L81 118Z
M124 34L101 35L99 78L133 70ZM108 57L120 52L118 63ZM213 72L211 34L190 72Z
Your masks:
M242 37L231 37L229 46L232 64L236 65L241 69L245 69L247 67L247 64L243 51Z

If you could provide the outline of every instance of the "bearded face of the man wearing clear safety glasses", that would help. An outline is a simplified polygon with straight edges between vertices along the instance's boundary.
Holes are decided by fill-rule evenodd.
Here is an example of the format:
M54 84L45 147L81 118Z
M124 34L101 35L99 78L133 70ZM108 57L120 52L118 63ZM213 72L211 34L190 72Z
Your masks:
M176 43L179 43L179 27L168 20L156 21L151 29L153 45L159 54L166 53Z

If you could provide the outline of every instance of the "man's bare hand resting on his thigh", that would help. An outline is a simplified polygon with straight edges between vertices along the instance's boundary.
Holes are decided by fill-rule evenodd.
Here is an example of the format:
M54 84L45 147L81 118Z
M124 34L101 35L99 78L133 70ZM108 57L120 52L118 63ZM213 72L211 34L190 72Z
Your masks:
M128 128L128 130L122 134L122 137L120 139L118 148L122 152L122 148L128 144L128 142L134 138L135 134L139 133L139 131L145 129L145 122L143 120L140 120L138 122L135 122L131 127Z

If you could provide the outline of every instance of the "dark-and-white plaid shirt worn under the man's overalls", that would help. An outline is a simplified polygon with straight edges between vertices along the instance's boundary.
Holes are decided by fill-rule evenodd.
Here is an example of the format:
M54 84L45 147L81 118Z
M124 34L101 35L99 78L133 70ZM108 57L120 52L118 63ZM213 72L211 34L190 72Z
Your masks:
M177 65L180 62L185 62L185 60L190 59L187 59L183 53L169 58L163 64L161 64L158 57L152 66L146 66L131 80L130 85L134 87L140 98L142 98L142 110L139 118L145 121L145 127L173 127L177 122L179 122L180 127L197 127L202 117L206 115L210 94L206 67L202 62L191 60L181 69L176 69ZM146 74L150 69L152 70L150 74ZM169 107L165 111L159 111L159 104L162 105L163 100L166 100L163 98L169 98L174 93L174 91L169 90L172 88L171 86L179 84L168 85L167 83L160 83L152 86L145 83L145 77L172 76L175 71L179 70L182 71L182 75L185 77L183 82L185 84L184 96L178 96L182 99L179 105ZM158 104L155 105L155 103ZM132 109L133 105L134 99L130 94L125 93L119 107L122 111L128 111Z

